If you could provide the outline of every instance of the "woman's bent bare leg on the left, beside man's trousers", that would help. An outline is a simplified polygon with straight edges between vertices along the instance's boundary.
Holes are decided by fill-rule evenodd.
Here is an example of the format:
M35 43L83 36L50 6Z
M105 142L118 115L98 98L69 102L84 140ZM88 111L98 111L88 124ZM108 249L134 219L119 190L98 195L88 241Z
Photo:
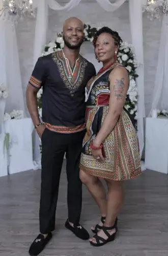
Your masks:
M100 209L101 216L105 217L107 210L107 199L104 186L99 178L80 170L80 180L88 187L88 190Z

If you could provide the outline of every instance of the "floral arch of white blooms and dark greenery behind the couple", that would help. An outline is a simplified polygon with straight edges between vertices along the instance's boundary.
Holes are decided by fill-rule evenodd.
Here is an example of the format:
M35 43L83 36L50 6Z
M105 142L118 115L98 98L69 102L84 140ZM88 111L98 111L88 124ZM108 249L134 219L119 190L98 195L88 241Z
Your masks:
M92 28L90 25L85 24L84 29L84 41L93 41L94 35L96 34L98 29ZM45 46L44 52L42 56L48 55L52 52L59 51L64 48L64 40L61 34L58 34L58 37L55 41L49 42L48 45ZM121 46L118 51L118 61L128 70L130 84L129 90L127 93L126 101L125 101L125 108L128 112L133 115L135 123L137 121L137 98L138 98L138 91L136 86L135 78L138 77L136 74L137 62L135 59L135 54L133 53L132 45L128 44L127 42L122 42ZM39 108L39 115L42 116L42 89L38 92L38 108Z

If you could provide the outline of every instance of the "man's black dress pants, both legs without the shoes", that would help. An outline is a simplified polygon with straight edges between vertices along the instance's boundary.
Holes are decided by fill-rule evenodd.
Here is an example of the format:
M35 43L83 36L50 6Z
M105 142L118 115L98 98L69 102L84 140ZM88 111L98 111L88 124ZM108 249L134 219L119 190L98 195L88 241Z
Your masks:
M82 140L85 131L61 134L44 130L41 138L41 197L40 197L40 232L47 234L55 229L55 211L57 207L59 183L64 155L67 158L68 180L68 219L79 223L82 203L82 183L79 179L79 161Z

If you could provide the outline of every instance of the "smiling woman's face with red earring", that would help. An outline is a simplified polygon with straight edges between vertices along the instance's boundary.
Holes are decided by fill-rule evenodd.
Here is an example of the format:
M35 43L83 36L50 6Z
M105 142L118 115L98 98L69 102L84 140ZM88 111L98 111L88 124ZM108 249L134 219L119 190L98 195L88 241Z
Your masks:
M115 51L118 51L118 46L115 45L114 38L108 33L100 34L95 47L95 54L98 59L104 63L114 61Z

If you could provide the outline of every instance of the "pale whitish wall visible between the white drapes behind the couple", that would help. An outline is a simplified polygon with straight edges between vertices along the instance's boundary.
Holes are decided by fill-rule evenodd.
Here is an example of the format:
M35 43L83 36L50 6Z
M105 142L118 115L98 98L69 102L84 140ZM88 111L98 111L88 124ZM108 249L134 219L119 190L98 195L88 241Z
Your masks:
M129 26L128 3L123 4L116 12L105 12L97 3L81 3L69 12L49 11L49 25L47 42L55 39L58 32L62 31L62 24L67 17L77 16L92 27L108 26L117 30L123 40L131 43ZM158 49L160 41L161 22L150 22L143 18L144 50L145 50L145 106L148 115L151 108L152 92L154 88L155 72L157 67ZM35 33L34 20L27 20L17 26L20 67L22 74L23 90L32 72L33 41Z

